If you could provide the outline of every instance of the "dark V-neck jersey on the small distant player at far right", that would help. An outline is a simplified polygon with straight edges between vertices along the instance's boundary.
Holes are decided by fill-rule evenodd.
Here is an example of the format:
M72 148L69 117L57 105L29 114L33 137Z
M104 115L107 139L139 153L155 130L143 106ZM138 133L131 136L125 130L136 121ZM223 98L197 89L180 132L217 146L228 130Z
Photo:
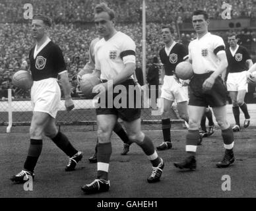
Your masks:
M248 70L246 60L251 59L251 57L245 47L240 45L234 56L230 51L230 47L228 47L226 55L228 59L228 73L239 73Z

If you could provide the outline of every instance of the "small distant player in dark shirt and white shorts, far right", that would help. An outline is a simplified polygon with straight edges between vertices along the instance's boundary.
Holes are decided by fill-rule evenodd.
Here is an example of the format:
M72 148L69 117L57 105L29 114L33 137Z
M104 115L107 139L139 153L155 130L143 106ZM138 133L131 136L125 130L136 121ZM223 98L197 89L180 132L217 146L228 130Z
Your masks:
M233 104L233 113L236 125L233 127L234 132L240 131L240 109L245 115L243 127L249 127L250 115L247 105L244 102L245 94L248 91L246 71L253 65L247 49L238 45L236 34L228 36L230 47L226 49L228 59L228 78L226 81L227 90Z

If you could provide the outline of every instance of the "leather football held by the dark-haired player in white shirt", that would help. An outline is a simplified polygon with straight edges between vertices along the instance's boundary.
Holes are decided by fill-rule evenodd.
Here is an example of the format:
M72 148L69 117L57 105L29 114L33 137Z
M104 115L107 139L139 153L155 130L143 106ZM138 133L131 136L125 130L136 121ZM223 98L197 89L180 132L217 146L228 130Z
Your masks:
M177 64L175 73L177 77L182 80L188 80L194 74L192 65L188 61L182 61L181 63Z

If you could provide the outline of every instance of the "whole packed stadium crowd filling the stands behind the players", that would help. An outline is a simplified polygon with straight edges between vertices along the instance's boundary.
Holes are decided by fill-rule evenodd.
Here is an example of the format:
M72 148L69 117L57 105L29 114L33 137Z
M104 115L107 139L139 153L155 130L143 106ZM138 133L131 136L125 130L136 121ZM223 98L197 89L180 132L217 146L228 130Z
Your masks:
M96 37L94 25L91 23L77 24L77 21L92 22L92 9L100 0L96 1L39 1L32 0L34 13L46 11L46 15L53 17L55 26L51 29L49 37L56 42L63 50L67 69L69 71L69 78L73 84L73 96L76 95L76 80L79 69L84 67L88 61L88 47L90 41ZM141 63L142 55L142 26L139 21L141 18L141 9L139 9L139 1L130 0L108 0L106 1L117 13L117 30L121 30L125 34L131 36L137 45L137 62ZM226 1L228 3L229 1ZM28 69L28 51L34 41L32 40L29 21L24 21L22 12L24 10L22 5L26 3L24 0L1 0L0 1L0 90L13 88L11 84L11 76L20 69ZM161 4L156 0L147 0L147 25L146 25L146 56L147 63L150 59L158 55L160 48L164 45L160 36L162 25L166 22L175 26L175 18L182 16L181 20L191 21L186 18L191 17L194 7L204 5L212 17L218 18L223 1L207 1L202 0L188 1L188 0L174 0L172 4L169 1L162 1ZM232 1L233 15L236 17L252 16L255 8L256 0L250 1ZM192 7L193 6L193 7ZM247 10L245 11L245 8ZM212 12L210 12L212 9ZM251 10L250 10L251 9ZM138 11L139 10L139 11ZM159 12L161 11L161 13ZM239 12L238 12L239 11ZM244 12L244 13L243 13ZM169 19L168 19L168 18ZM174 19L170 19L170 17ZM129 22L129 23L127 23ZM160 23L159 23L160 22ZM64 24L65 23L65 24ZM214 32L222 36L227 41L229 32ZM238 30L240 37L240 44L247 47L249 50L253 49L251 46L256 46L256 33L251 30ZM195 34L181 33L176 37L178 42L188 45ZM178 38L180 40L178 40ZM255 48L254 48L255 50ZM256 55L255 51L251 54ZM28 93L22 90L15 90L16 98L29 98Z

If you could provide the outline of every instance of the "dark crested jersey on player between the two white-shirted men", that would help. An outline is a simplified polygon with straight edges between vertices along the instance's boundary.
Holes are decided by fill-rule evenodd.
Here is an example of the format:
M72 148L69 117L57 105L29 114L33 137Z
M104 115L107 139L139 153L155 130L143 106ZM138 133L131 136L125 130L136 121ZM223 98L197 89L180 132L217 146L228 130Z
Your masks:
M187 59L188 54L187 47L183 44L175 44L169 55L166 54L165 47L163 47L159 55L164 65L165 75L174 75L177 64Z

